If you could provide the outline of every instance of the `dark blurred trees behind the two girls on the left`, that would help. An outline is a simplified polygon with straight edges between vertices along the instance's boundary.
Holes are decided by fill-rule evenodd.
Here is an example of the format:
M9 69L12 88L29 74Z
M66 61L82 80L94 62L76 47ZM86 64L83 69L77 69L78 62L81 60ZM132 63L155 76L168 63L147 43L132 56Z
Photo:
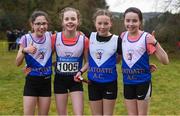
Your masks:
M94 29L92 15L96 8L108 8L105 0L0 0L0 30L25 28L29 30L29 16L34 10L47 12L51 19L50 30L61 30L59 12L65 7L74 7L82 14L80 29Z

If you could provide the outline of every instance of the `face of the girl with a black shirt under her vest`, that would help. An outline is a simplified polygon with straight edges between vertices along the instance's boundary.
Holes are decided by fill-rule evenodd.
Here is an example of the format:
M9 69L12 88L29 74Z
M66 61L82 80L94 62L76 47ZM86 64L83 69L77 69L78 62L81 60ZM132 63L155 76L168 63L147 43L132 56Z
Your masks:
M95 27L96 31L100 36L109 36L110 28L112 26L112 22L109 16L107 15L99 15L95 19Z

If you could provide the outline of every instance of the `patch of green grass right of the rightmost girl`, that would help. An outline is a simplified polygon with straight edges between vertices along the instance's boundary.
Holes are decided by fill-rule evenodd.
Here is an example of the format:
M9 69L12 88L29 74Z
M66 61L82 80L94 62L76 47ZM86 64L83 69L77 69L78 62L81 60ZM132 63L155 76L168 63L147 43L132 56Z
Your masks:
M162 65L155 62L158 70L153 73L153 94L150 114L180 115L180 55L169 55L170 64Z

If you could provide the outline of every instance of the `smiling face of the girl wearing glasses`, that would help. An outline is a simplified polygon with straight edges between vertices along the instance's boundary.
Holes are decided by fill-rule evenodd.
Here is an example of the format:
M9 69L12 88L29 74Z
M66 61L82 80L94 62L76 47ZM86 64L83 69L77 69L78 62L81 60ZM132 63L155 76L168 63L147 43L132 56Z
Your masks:
M31 23L31 27L37 37L42 37L48 29L48 21L45 16L37 16Z

